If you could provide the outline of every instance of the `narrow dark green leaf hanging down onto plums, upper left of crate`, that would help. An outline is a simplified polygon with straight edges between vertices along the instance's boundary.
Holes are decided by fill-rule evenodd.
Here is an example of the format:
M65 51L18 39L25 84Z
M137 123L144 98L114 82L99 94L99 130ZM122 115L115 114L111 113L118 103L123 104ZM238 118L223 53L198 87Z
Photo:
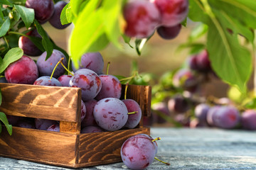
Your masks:
M34 20L34 23L36 24L36 29L38 30L38 33L43 38L42 44L44 49L47 52L46 60L52 55L53 53L53 43L50 41L50 38L48 37L46 31L43 29L43 27L38 23L38 21Z

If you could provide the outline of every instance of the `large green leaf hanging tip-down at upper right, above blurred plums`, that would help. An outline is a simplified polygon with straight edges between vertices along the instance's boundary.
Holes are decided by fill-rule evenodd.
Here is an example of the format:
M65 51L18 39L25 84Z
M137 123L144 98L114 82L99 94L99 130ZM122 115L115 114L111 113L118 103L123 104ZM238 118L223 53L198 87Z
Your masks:
M241 47L237 36L230 35L220 21L213 22L209 23L207 40L211 65L223 81L245 93L252 72L250 52Z

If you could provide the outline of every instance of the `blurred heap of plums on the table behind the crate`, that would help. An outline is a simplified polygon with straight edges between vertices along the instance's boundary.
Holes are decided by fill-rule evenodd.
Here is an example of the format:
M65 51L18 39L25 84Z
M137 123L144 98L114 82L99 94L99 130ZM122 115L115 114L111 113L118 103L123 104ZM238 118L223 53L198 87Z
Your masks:
M168 82L166 79L162 80L161 90L164 89L166 96L162 101L152 105L154 120L148 119L144 122L147 125L154 122L165 123L166 119L161 116L165 115L174 122L191 128L256 130L255 110L247 108L239 110L229 98L203 95L201 87L204 83L209 83L211 78L218 79L218 76L210 67L207 50L189 56L183 67L167 75Z

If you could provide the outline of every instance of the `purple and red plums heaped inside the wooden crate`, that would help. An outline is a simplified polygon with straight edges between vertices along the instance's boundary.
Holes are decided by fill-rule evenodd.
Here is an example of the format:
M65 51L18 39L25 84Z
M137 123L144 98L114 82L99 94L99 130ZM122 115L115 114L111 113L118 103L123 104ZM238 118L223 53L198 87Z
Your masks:
M60 61L67 67L65 56L58 50L46 60L46 52L36 63L23 56L6 68L6 81L11 84L33 84L40 86L79 87L82 91L81 127L82 133L114 131L121 128L135 128L142 118L139 104L132 99L120 100L122 86L110 74L102 74L104 66L100 52L82 55L78 70L73 66L73 75L65 74L65 67L56 64ZM53 77L51 77L51 74ZM59 124L53 120L8 116L9 123L26 128L59 131Z

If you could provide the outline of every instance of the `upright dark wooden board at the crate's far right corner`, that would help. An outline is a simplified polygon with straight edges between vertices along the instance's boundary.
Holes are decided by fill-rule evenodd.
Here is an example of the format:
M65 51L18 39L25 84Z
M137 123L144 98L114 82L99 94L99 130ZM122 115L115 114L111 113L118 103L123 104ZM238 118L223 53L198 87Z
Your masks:
M125 85L122 85L122 96L124 98ZM142 115L151 115L151 86L129 85L127 89L127 98L131 98L139 103L142 108Z

